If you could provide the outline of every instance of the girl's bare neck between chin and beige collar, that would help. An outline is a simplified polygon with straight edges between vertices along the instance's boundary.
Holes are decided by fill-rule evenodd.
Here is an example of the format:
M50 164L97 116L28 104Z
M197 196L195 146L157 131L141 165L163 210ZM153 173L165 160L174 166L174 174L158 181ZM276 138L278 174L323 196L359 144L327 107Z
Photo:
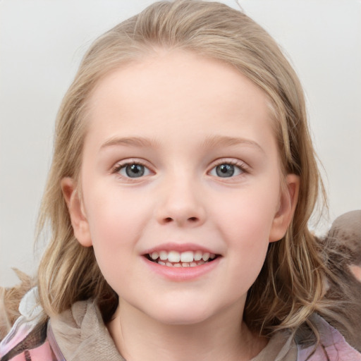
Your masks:
M242 310L224 310L197 324L164 324L124 302L108 329L127 361L246 361L267 345L240 322Z

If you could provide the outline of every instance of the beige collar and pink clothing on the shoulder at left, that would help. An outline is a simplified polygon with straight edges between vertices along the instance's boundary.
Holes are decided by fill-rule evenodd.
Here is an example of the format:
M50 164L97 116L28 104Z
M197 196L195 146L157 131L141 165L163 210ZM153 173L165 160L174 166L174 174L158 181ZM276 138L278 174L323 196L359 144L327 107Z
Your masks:
M125 361L93 300L76 302L49 320L26 314L26 310L20 313L0 343L0 361Z

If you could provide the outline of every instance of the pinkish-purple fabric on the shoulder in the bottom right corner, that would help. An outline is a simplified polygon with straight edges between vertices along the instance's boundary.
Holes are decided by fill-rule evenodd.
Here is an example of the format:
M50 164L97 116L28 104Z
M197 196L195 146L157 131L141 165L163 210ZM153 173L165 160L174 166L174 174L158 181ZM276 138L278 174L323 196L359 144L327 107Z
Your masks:
M361 353L322 317L314 314L312 322L319 331L319 344L307 348L298 345L298 361L361 361Z

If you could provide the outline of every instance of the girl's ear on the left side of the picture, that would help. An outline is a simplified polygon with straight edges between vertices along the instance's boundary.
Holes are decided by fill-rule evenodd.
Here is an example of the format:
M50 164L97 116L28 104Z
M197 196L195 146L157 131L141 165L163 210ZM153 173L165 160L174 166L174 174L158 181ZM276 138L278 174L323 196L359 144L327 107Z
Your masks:
M71 225L73 226L75 238L84 247L90 247L92 238L90 237L89 224L73 178L63 178L61 180L61 190L71 216Z

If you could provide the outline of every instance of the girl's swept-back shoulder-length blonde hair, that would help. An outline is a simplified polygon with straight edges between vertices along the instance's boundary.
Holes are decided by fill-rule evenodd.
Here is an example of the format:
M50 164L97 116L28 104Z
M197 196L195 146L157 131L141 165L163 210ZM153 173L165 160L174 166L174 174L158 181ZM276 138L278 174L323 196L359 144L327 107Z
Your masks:
M293 222L282 240L269 245L266 262L250 288L245 322L269 335L297 329L322 306L327 270L307 228L322 183L307 128L302 87L278 45L244 13L224 4L161 1L99 37L85 54L61 104L54 159L39 216L39 230L51 226L51 240L38 271L39 295L47 314L78 300L97 300L104 320L118 298L102 276L92 247L75 239L61 179L78 178L87 131L87 99L106 73L159 49L184 49L230 64L264 90L279 144L283 174L300 176Z

